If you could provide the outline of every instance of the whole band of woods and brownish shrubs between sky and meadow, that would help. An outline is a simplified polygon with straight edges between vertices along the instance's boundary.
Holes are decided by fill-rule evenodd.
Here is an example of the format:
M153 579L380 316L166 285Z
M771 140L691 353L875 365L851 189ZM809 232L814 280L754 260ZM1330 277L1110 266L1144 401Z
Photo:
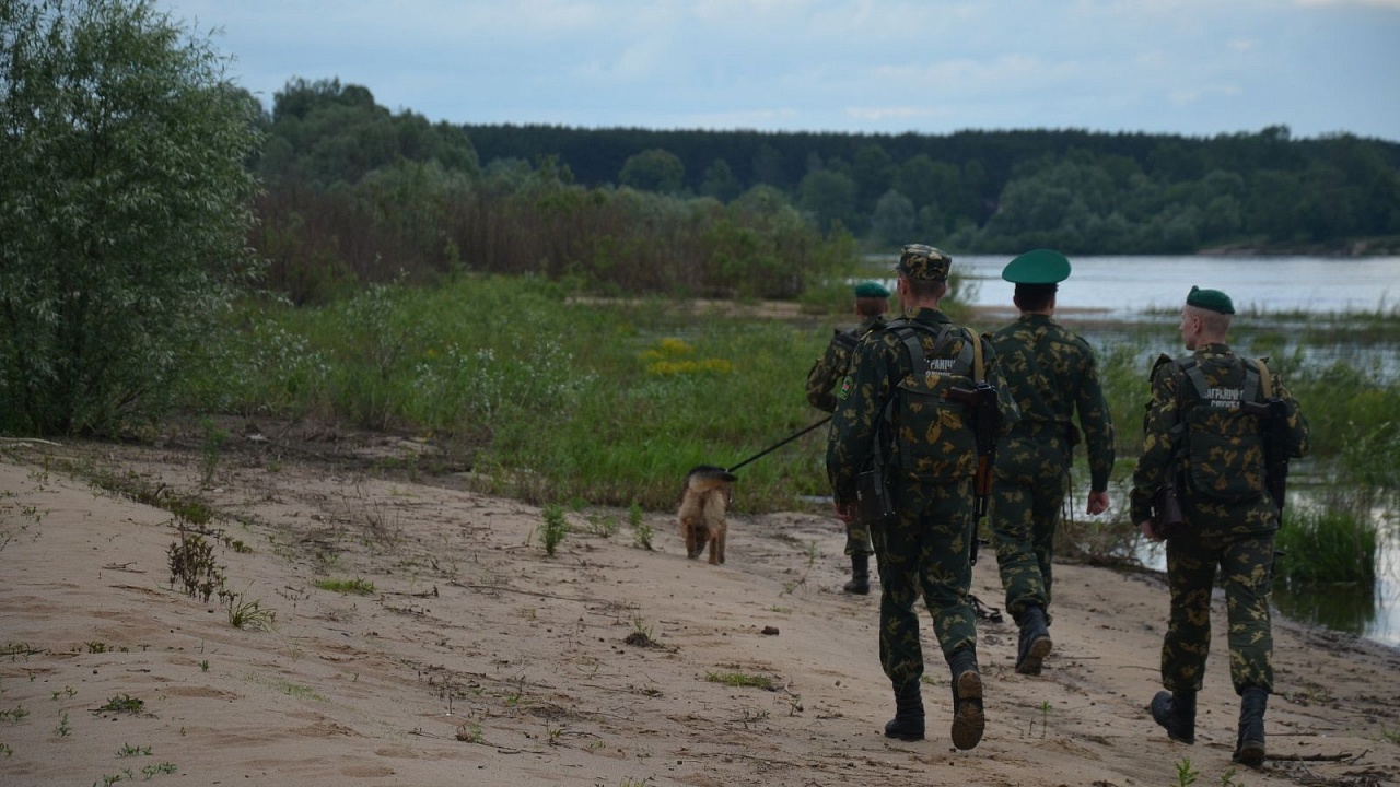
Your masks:
M293 80L252 245L298 302L459 270L602 293L795 297L861 251L1400 251L1400 144L1284 126L760 133L452 125Z

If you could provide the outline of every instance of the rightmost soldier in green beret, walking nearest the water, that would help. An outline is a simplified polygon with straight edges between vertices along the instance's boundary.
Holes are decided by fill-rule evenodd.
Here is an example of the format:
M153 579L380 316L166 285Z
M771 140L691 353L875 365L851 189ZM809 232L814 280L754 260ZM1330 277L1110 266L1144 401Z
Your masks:
M1229 671L1240 697L1235 760L1264 760L1264 711L1273 692L1274 534L1280 507L1266 492L1260 417L1245 403L1270 394L1281 401L1285 457L1308 452L1308 422L1264 361L1242 358L1225 343L1235 307L1225 293L1191 287L1180 333L1190 358L1161 358L1142 419L1142 457L1133 475L1133 521L1166 538L1170 618L1162 641L1162 685L1152 718L1173 741L1196 742L1196 693L1211 641L1211 588L1219 567L1229 616ZM1261 382L1264 381L1264 382ZM1260 394L1257 389L1263 388ZM1275 433L1277 434L1277 433ZM1159 532L1154 496L1180 490L1183 522Z

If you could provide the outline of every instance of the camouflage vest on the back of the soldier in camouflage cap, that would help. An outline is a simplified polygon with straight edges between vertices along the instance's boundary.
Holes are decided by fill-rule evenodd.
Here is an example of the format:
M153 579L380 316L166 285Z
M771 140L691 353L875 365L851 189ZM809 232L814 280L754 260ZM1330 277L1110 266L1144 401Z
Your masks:
M886 326L904 344L910 372L895 386L885 406L892 433L892 462L906 478L921 482L952 482L977 472L977 437L972 415L952 389L972 391L984 378L981 340L976 333L952 325L935 329L913 321ZM924 353L920 335L932 335L934 347ZM962 350L952 357L942 351L955 339Z

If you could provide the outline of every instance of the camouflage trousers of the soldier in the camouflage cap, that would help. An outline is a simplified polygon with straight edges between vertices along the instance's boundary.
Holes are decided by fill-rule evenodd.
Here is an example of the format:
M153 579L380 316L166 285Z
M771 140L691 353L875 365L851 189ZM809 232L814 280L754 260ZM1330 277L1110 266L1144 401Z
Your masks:
M976 648L977 623L967 588L972 566L972 480L896 490L899 521L876 527L879 660L895 686L918 681L924 651L914 604L923 594L944 660Z

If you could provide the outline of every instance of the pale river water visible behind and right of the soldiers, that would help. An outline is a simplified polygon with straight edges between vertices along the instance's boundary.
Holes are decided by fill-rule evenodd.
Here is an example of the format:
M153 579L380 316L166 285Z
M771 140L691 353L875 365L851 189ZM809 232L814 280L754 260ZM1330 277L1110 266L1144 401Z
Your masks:
M1012 315L1014 286L1001 279L1001 269L1009 259L1011 255L955 256L953 272L960 283L953 295L980 309L995 314L1004 308ZM888 256L871 260L879 267L890 262ZM1184 351L1179 347L1176 325L1193 284L1228 293L1239 314L1236 323L1263 319L1285 336L1292 326L1317 326L1348 316L1400 321L1400 256L1085 256L1071 258L1071 266L1072 273L1060 284L1056 298L1061 321L1100 346L1112 343L1114 329L1105 325L1102 332L1096 330L1096 322L1159 323L1162 344L1154 347L1151 356ZM886 281L893 288L893 280ZM1400 374L1400 347L1394 344L1324 347L1285 342L1285 350L1296 351L1305 364L1343 360L1366 364L1385 375ZM1127 506L1127 501L1116 500L1114 506ZM1275 606L1282 615L1400 647L1400 524L1386 518L1394 515L1393 507L1376 515L1382 541L1375 587L1285 588L1280 584ZM1165 569L1161 549L1147 549L1140 557Z

